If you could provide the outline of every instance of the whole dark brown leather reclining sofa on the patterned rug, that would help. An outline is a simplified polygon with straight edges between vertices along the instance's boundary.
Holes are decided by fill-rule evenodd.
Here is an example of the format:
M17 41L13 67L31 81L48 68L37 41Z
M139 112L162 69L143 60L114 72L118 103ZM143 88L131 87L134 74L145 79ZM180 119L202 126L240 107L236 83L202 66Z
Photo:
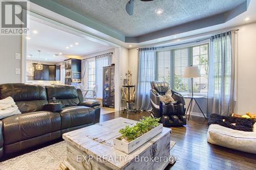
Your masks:
M11 96L22 114L0 120L0 157L61 138L63 133L99 122L100 103L84 102L73 86L0 85L0 99ZM56 98L62 110L47 111ZM60 107L61 108L61 107Z

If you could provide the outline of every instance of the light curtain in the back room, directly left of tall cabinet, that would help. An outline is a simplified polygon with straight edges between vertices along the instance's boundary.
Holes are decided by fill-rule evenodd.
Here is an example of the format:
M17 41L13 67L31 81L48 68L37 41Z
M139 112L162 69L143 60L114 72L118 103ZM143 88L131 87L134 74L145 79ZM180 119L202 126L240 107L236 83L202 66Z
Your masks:
M96 62L96 72L95 72L95 84L98 86L98 91L97 91L97 98L102 98L103 94L103 67L104 66L109 66L111 62L111 56L112 53L97 56L95 59Z

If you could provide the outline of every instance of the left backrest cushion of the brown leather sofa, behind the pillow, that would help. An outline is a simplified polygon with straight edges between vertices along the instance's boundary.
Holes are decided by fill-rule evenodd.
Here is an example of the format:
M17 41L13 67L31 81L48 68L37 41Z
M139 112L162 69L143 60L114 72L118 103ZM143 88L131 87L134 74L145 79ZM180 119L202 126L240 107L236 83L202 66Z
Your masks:
M41 85L23 83L0 85L0 99L11 96L20 112L36 112L44 110L48 104L46 88Z

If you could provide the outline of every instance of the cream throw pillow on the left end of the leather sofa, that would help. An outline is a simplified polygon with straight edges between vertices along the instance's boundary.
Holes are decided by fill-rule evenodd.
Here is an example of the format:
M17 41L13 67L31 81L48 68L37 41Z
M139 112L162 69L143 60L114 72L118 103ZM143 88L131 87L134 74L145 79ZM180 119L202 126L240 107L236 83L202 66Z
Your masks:
M0 119L16 114L22 114L11 97L0 100Z

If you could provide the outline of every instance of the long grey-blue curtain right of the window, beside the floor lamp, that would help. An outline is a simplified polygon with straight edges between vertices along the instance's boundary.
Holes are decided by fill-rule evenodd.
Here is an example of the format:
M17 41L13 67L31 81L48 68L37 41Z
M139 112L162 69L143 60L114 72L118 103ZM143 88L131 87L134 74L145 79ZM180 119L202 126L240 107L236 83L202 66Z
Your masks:
M234 107L236 31L210 37L207 115L231 115Z

